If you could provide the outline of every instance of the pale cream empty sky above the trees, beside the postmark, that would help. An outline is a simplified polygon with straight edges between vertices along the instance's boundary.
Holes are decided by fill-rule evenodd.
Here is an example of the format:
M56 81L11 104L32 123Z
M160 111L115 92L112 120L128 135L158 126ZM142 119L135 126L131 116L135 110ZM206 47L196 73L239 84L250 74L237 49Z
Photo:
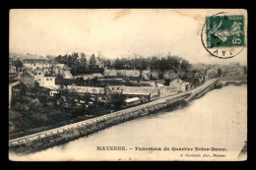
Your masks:
M190 63L247 63L247 49L222 60L211 57L201 42L206 16L215 10L70 9L11 10L10 52L64 55L98 54L114 59L179 55Z

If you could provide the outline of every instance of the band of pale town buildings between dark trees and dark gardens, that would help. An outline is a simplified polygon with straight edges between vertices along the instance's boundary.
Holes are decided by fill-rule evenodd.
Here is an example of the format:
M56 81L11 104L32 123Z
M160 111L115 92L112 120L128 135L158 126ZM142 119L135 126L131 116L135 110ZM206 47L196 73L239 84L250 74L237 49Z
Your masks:
M197 66L194 70L186 71L151 70L151 67L147 67L147 70L116 70L102 65L99 57L96 59L94 68L103 69L102 73L73 75L70 67L48 58L24 59L22 70L17 72L14 61L10 58L9 74L16 74L17 77L14 79L29 87L38 85L47 88L49 97L59 94L63 86L69 92L78 95L91 95L91 101L87 102L87 107L94 103L96 95L100 95L97 100L109 103L110 99L106 97L107 95L121 93L125 96L124 103L131 105L129 102L137 103L138 99L149 101L186 91L212 78L244 75L244 68L237 64L212 68ZM102 97L103 95L106 96ZM74 98L78 105L85 103L85 100L79 98L81 97Z

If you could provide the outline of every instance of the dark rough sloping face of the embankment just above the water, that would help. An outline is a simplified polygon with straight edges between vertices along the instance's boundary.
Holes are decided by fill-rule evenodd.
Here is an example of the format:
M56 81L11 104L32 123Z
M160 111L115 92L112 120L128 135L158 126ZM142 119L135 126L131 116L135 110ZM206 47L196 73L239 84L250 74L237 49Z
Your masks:
M77 126L74 125L72 128L62 128L62 130L57 130L57 133L45 133L44 137L42 135L39 138L33 139L33 141L25 140L24 143L20 142L19 144L11 144L9 148L10 151L22 154L36 152L54 145L63 144L65 142L74 141L81 137L89 136L102 129L138 118L149 113L154 113L162 108L176 105L179 102L181 101L174 100L168 105L156 104L153 105L152 108L142 108L127 113L126 111L114 113L109 115L109 117L93 120L91 123L82 123L81 125Z

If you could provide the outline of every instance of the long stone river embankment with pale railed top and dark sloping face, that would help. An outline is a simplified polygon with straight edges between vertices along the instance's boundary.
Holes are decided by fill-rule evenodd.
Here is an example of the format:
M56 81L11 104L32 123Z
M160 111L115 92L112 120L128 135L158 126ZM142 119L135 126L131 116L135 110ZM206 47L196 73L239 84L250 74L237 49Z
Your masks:
M72 125L66 125L57 129L37 133L20 139L11 140L9 142L10 151L27 154L37 150L45 149L69 141L76 140L80 137L90 135L96 131L107 127L125 122L137 117L154 113L165 107L170 107L179 102L182 102L186 97L198 94L204 94L216 85L216 80L211 80L204 85L200 85L190 91L178 93L172 96L160 98L156 101L142 104L129 109L114 112L108 115L100 116L94 119L82 121Z

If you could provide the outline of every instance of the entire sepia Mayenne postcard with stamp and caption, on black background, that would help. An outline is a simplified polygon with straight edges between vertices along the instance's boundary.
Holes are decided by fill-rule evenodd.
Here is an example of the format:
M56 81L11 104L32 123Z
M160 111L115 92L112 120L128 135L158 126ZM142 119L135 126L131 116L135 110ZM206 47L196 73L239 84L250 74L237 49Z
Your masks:
M244 9L11 9L11 161L247 160Z

